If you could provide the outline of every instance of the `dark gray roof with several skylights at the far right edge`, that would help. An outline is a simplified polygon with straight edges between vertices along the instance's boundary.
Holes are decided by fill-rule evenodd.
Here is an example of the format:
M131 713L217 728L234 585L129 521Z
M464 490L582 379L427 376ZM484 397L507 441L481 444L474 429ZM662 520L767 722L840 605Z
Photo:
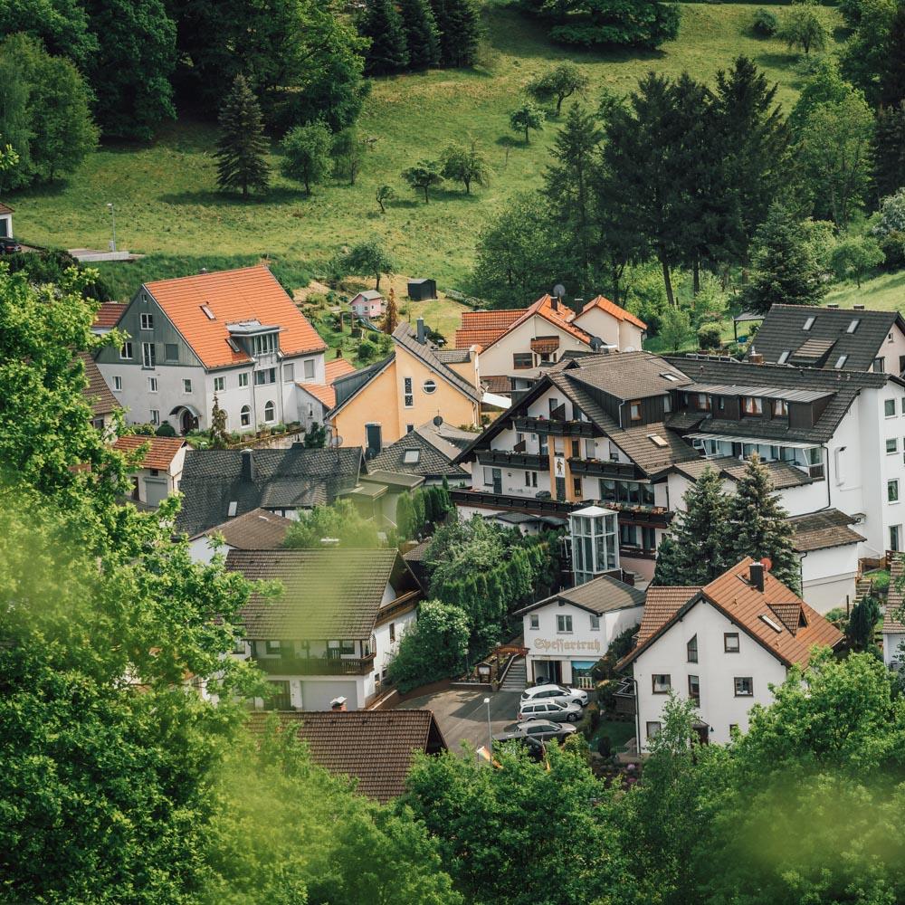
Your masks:
M814 318L811 329L803 329ZM849 333L853 320L857 329ZM793 364L834 369L840 356L847 356L844 367L867 371L873 359L882 356L883 345L893 329L905 331L905 321L897 311L856 311L852 309L811 308L805 305L774 305L754 338L753 351L767 362L776 362L783 352ZM899 362L888 363L899 373Z

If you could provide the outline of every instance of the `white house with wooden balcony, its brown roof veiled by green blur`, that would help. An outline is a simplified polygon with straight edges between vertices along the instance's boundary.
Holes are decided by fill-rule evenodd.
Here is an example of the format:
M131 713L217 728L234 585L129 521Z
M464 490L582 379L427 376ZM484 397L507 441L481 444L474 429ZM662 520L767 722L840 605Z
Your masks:
M422 597L397 550L232 549L226 567L284 589L277 600L252 595L241 614L235 656L252 659L276 692L255 706L325 710L345 698L360 710L374 700Z

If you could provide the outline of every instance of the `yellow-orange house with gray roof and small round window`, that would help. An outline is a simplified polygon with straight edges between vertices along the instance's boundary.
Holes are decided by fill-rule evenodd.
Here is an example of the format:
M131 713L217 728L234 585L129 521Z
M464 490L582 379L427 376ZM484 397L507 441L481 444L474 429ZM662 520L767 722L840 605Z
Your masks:
M417 329L400 324L393 345L383 361L333 383L336 405L327 420L343 446L379 452L438 414L446 424L478 424L476 349L435 348L421 319Z

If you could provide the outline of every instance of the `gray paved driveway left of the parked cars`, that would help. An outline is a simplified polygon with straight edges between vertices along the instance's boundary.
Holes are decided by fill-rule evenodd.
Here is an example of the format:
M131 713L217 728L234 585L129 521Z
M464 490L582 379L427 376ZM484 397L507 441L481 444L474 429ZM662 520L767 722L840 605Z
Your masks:
M462 742L472 748L487 746L487 705L491 699L491 733L496 735L515 722L519 712L518 691L466 691L451 689L406 700L402 707L433 710L443 738L451 751L462 753Z

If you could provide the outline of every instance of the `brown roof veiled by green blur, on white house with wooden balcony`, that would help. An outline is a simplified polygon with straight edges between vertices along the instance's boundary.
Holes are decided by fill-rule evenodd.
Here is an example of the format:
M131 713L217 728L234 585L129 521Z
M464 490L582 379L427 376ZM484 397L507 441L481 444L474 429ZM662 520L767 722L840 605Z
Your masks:
M226 568L251 581L279 579L282 594L252 594L243 637L274 641L367 641L386 586L396 597L418 584L395 549L230 550Z

